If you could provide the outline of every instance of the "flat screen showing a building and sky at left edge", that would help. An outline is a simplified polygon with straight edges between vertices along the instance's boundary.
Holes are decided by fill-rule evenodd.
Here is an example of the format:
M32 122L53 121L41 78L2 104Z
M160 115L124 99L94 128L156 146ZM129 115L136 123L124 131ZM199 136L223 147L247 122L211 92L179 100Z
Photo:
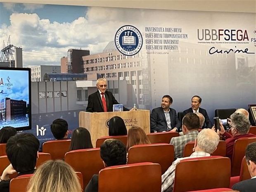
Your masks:
M31 69L0 67L0 129L31 129Z

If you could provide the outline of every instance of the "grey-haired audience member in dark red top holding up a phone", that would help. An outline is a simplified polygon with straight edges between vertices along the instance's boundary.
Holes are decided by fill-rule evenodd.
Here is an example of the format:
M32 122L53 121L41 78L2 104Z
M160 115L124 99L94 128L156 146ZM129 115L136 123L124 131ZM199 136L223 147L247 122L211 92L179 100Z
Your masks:
M225 131L221 122L220 122L220 131L217 130L217 133L220 133L220 135L222 135L225 138L226 156L232 160L235 140L239 138L245 138L245 137L256 137L256 135L248 133L250 129L250 121L242 113L233 113L230 116L229 126L231 129L232 135L230 135L227 131Z

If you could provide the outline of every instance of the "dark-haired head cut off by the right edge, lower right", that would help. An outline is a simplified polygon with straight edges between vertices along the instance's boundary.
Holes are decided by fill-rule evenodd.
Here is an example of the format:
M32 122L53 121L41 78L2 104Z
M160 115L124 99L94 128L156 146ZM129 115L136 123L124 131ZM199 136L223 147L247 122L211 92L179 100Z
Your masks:
M256 142L247 145L245 150L245 159L251 177L256 176Z

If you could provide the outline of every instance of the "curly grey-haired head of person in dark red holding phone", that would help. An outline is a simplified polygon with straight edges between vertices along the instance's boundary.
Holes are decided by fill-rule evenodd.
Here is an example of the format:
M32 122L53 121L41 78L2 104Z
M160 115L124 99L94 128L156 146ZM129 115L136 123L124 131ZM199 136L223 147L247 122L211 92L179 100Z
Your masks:
M236 135L244 135L249 132L250 121L244 114L233 113L230 116L230 120L230 129L234 137Z

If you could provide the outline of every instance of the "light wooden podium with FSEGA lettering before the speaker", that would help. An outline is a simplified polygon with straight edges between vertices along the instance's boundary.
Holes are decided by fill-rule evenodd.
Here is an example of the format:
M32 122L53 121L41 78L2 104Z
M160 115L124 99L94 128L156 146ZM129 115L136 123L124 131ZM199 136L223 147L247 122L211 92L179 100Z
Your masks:
M150 133L149 110L137 109L137 111L101 113L80 111L79 127L85 127L90 131L93 147L96 145L97 138L109 135L108 123L113 116L121 117L126 125L127 130L132 126L138 126L141 127L146 134Z

